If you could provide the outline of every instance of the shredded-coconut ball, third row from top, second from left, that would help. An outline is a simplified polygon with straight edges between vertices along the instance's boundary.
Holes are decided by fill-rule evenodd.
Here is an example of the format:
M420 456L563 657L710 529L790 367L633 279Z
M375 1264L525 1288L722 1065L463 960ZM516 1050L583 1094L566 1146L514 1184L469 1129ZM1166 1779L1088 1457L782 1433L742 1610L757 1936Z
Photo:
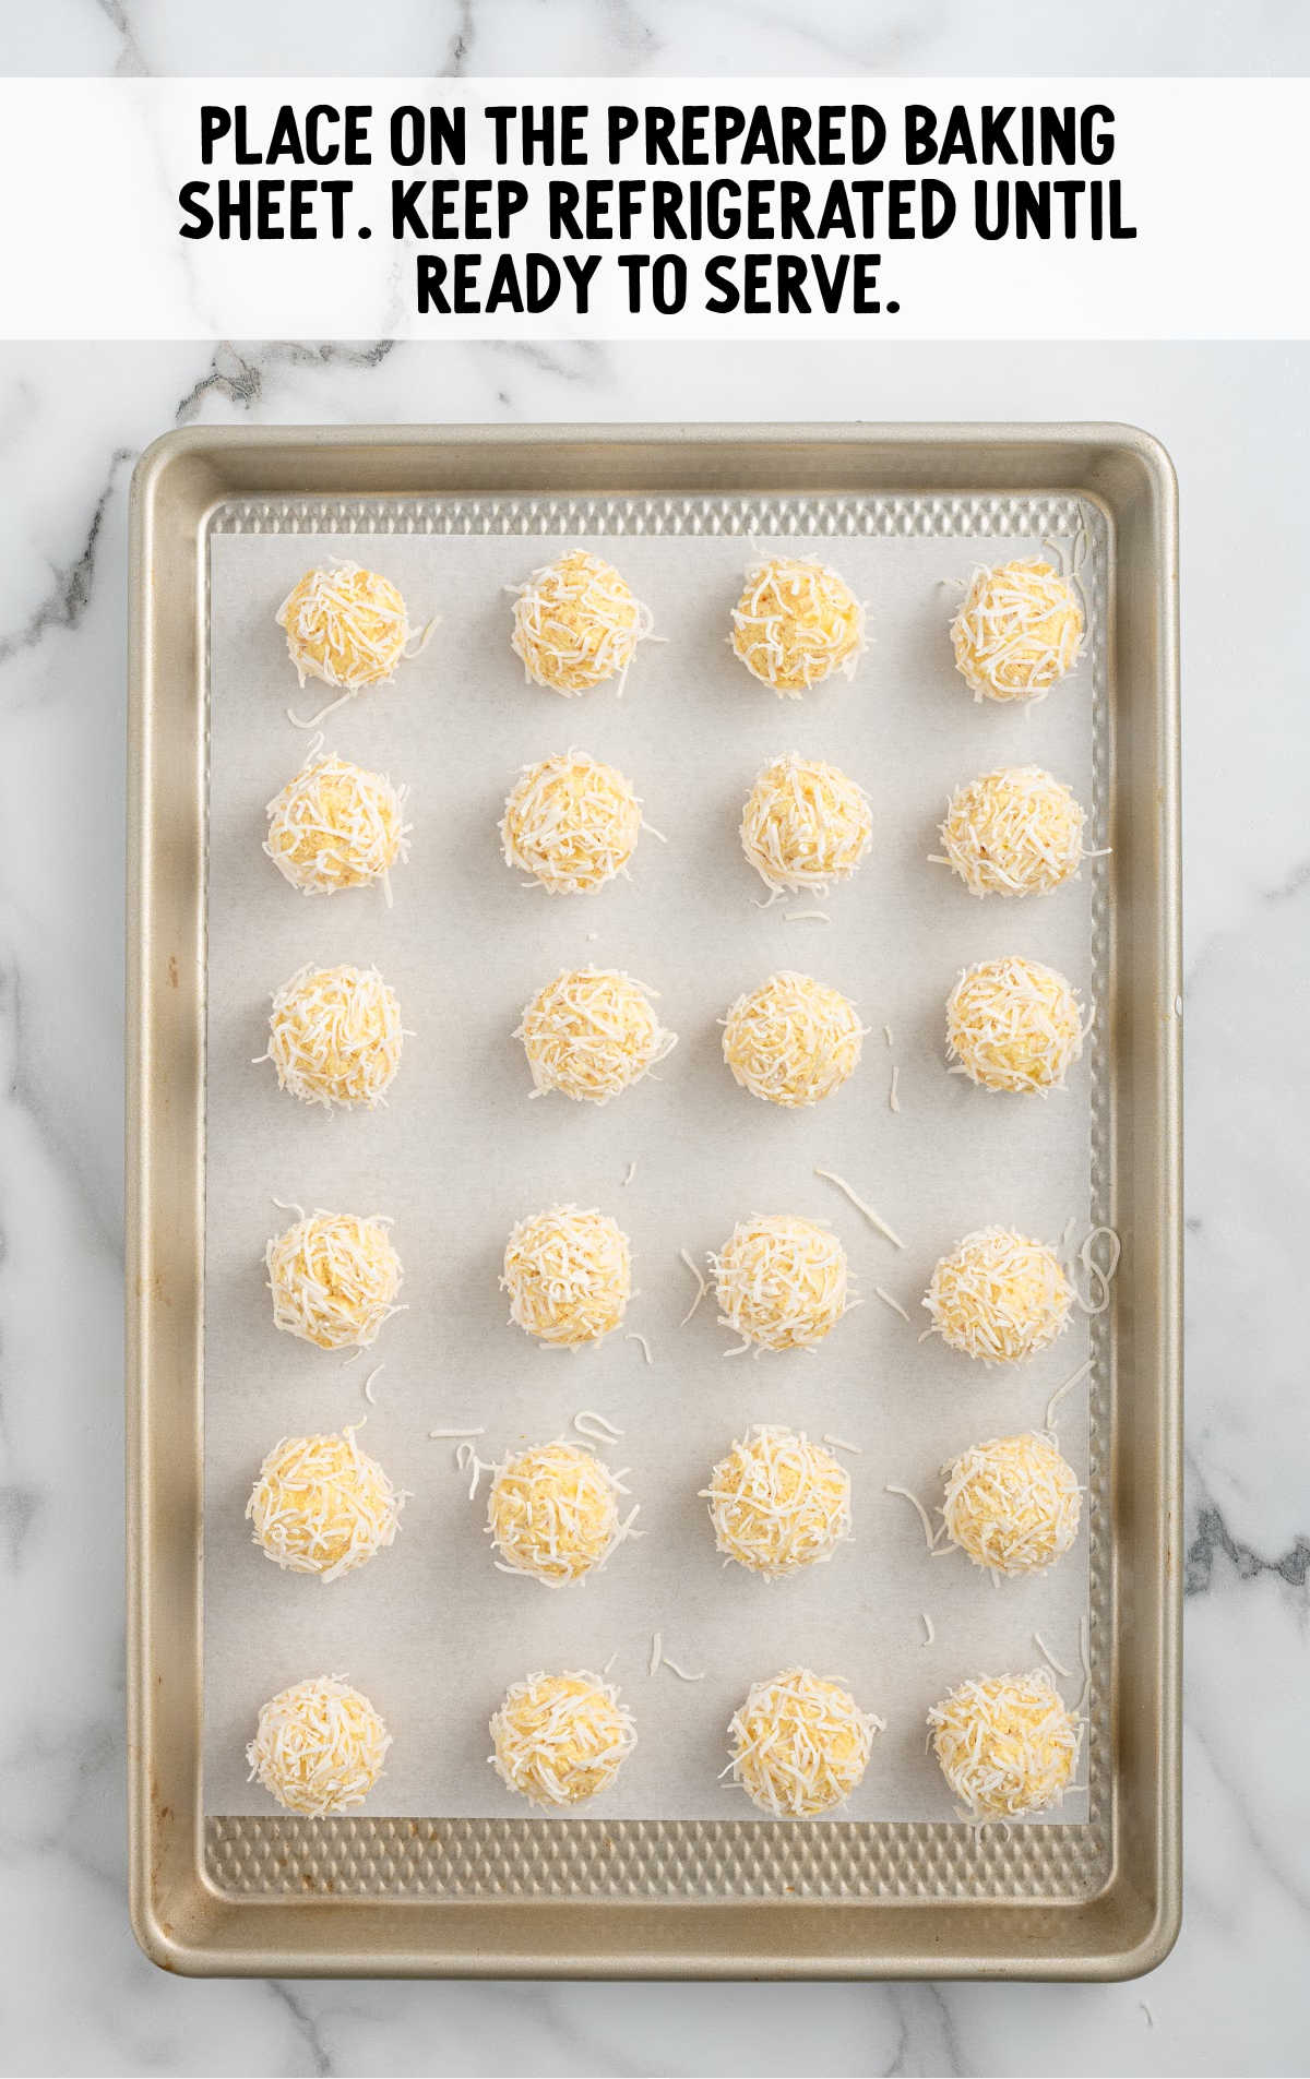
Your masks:
M532 1096L557 1089L582 1104L618 1098L678 1044L640 981L597 967L564 967L524 1008L514 1037L528 1056Z

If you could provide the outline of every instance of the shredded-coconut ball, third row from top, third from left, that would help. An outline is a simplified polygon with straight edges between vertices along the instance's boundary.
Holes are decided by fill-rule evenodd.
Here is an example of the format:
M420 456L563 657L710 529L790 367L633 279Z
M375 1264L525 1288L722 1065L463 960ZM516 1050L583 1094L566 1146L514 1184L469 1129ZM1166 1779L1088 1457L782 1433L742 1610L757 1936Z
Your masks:
M784 971L732 1004L724 1019L724 1060L753 1098L796 1108L842 1087L863 1037L846 996L813 975Z

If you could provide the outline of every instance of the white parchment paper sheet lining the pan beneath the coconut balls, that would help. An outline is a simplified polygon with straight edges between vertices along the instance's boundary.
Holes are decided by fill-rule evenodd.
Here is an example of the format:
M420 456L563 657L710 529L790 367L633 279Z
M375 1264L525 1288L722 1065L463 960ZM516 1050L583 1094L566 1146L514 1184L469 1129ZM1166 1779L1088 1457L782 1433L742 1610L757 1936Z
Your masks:
M815 503L809 501L813 511ZM1075 530L1075 505L1063 545ZM715 501L722 507L722 501ZM850 501L846 501L850 505ZM1036 759L1092 798L1092 684L1100 644L1100 516L1092 541L1092 644L1036 709L975 707L944 634L979 557L1036 553L1040 534L969 541L919 534L788 536L834 561L869 603L871 647L853 684L805 703L757 686L724 642L751 549L742 538L570 532L222 534L210 538L210 884L208 884L208 1252L206 1252L206 1809L266 1813L245 1784L258 1705L306 1674L349 1676L378 1705L395 1746L372 1815L522 1815L487 1767L487 1717L507 1682L536 1667L615 1655L640 1744L597 1817L751 1817L717 1780L724 1728L751 1680L792 1661L844 1678L888 1719L861 1790L840 1817L948 1819L952 1800L923 1753L923 1713L954 1680L1040 1661L1033 1630L1077 1667L1088 1603L1088 1528L1054 1574L992 1586L954 1555L927 1559L911 1507L886 1480L940 1495L938 1468L979 1437L1038 1426L1046 1399L1088 1353L1088 1324L1019 1372L986 1372L919 1343L919 1297L942 1249L990 1220L1056 1239L1092 1225L1094 1037L1071 1089L1004 1100L950 1077L942 1004L959 967L1000 952L1050 960L1092 981L1094 871L1050 898L979 904L925 863L950 788L975 771ZM274 526L274 522L268 522ZM655 611L663 644L643 644L620 699L564 703L524 686L507 644L505 584L566 547L611 555ZM272 611L329 553L393 576L416 620L441 613L428 651L397 684L324 723L326 746L410 786L410 863L395 906L376 890L299 898L260 852L264 802L308 740L285 707L295 686ZM651 823L628 881L549 900L509 873L495 836L518 769L586 748L638 786ZM846 767L873 802L861 873L821 904L757 906L736 821L757 769L798 748ZM1098 842L1098 840L1094 840ZM821 906L830 923L788 921ZM595 936L593 936L595 933ZM405 1025L387 1110L326 1116L277 1089L264 1050L268 994L299 965L376 960ZM680 1044L659 1081L603 1108L541 1098L512 1029L561 965L628 967L661 992ZM738 1091L717 1017L746 985L801 967L846 990L871 1031L850 1083L813 1112L780 1112ZM892 1048L882 1027L892 1029ZM900 1114L888 1108L898 1064ZM630 1183L624 1183L636 1164ZM815 1166L836 1168L886 1214L905 1252L877 1237ZM343 1364L281 1337L264 1291L264 1241L287 1216L272 1198L395 1216L408 1312L372 1353ZM638 1297L595 1353L541 1351L505 1322L503 1239L553 1200L597 1204L632 1237ZM707 1301L678 1328L703 1258L753 1210L828 1218L865 1304L815 1356L724 1362L732 1337ZM873 1297L884 1285L907 1326ZM378 1405L362 1380L385 1362ZM1085 1383L1060 1407L1063 1449L1085 1472ZM551 1593L491 1563L484 1486L470 1505L453 1445L437 1426L484 1424L484 1457L570 1428L580 1407L624 1430L638 1543L578 1590ZM408 1489L391 1551L322 1586L281 1574L250 1543L243 1505L264 1451L287 1432L368 1416L362 1445ZM790 1422L863 1445L846 1457L855 1541L830 1565L767 1586L724 1568L697 1489L751 1422ZM921 1611L936 1638L923 1640ZM647 1676L651 1634L695 1684ZM1075 1696L1081 1672L1065 1684ZM1085 1763L1083 1763L1085 1773ZM1083 1815L1081 1792L1060 1817Z

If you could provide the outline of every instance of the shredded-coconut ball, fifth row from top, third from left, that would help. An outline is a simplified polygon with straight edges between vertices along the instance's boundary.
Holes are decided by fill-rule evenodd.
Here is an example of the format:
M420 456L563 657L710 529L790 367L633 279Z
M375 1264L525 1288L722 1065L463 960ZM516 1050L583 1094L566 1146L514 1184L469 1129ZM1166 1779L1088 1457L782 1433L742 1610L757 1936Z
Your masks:
M765 1580L832 1559L850 1536L850 1474L796 1430L753 1428L713 1468L703 1499L724 1557Z

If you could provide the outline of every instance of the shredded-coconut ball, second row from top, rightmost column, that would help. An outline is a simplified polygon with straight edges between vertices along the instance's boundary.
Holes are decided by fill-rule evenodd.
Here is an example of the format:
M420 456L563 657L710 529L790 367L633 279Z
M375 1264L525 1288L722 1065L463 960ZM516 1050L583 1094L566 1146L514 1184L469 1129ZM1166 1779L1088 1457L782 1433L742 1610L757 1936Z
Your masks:
M1081 867L1088 817L1040 765L1006 765L959 786L942 823L942 861L971 896L1036 896Z

